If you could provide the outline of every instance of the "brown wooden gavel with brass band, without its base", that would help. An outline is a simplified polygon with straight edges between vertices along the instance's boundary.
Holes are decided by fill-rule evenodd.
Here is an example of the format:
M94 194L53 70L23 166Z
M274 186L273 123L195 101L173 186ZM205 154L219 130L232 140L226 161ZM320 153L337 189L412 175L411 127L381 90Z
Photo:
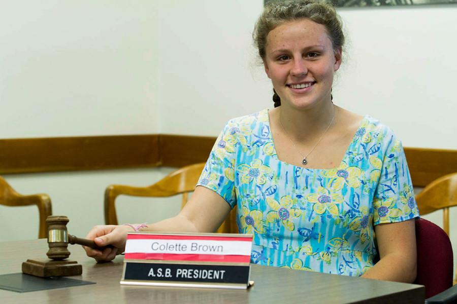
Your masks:
M51 215L46 219L48 224L48 246L49 251L46 255L53 260L62 260L70 256L68 244L79 244L93 249L101 250L110 247L100 247L94 241L88 239L77 238L68 234L67 223L69 219L63 215Z

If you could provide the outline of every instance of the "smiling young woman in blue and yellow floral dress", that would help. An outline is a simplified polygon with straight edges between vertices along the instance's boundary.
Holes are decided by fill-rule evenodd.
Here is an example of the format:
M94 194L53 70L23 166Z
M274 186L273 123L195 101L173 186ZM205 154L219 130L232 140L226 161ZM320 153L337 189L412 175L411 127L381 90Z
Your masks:
M213 232L237 208L240 233L254 235L253 263L412 282L418 210L401 142L332 101L344 45L335 9L274 4L254 41L274 109L229 121L185 208L141 230ZM115 249L87 254L113 259L132 230L95 226L87 238Z

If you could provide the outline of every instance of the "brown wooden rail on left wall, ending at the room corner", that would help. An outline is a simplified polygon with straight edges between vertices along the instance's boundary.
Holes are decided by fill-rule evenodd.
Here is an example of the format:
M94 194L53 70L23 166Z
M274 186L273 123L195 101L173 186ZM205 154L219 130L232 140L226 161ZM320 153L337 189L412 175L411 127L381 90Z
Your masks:
M0 139L0 174L158 165L156 134Z

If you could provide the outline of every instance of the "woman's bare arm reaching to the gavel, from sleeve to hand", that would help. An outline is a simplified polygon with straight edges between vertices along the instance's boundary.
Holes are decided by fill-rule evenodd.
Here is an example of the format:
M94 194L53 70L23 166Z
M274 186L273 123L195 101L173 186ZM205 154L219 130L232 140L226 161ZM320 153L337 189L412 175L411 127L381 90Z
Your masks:
M214 191L197 186L190 200L178 215L148 224L142 231L161 232L214 232L227 217L231 208ZM93 227L86 238L94 240L99 246L112 245L113 248L95 250L84 247L86 254L97 261L110 261L116 254L124 251L128 232L132 227L126 225L99 225Z

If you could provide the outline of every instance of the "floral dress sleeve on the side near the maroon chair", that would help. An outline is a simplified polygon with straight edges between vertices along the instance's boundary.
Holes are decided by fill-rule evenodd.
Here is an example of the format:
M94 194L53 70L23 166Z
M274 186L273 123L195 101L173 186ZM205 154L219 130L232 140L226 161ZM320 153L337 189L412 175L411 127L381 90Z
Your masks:
M389 133L373 199L374 225L419 217L402 143Z

